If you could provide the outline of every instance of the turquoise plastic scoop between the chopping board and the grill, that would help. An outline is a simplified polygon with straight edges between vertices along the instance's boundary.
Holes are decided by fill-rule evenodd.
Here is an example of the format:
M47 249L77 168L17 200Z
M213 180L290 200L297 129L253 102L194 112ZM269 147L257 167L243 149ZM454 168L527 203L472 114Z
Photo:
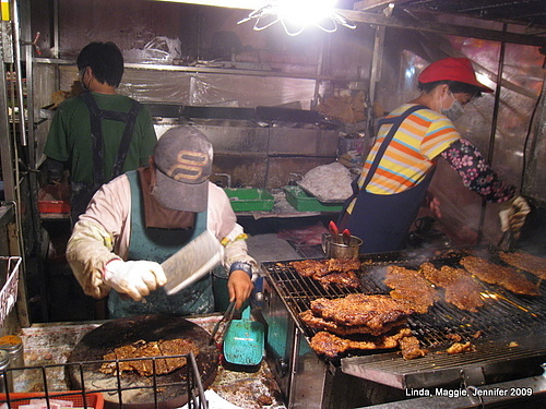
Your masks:
M250 304L241 320L233 320L224 338L224 361L232 369L258 370L263 358L263 325L250 320ZM225 364L224 363L224 364Z

